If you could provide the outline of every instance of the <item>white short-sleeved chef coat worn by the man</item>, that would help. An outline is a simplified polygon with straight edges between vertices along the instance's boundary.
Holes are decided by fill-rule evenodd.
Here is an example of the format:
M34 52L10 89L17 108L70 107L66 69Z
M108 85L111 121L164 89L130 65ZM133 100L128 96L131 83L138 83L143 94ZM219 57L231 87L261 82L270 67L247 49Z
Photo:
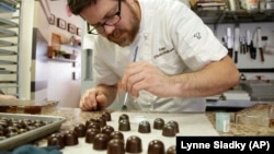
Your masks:
M134 43L119 47L98 36L94 45L94 81L116 84L125 66L134 59L146 60L168 75L197 71L227 55L227 49L203 21L176 0L138 0L141 8L140 29ZM123 14L123 12L122 12ZM128 108L157 111L205 111L204 98L159 98L141 91L129 100Z

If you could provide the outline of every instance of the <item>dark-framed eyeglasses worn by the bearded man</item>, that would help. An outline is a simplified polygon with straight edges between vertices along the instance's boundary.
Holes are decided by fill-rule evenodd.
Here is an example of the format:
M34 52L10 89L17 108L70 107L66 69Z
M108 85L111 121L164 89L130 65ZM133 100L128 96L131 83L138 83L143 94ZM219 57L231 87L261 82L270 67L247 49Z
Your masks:
M114 26L121 20L121 0L118 0L118 11L105 20L104 23L92 26L88 24L88 33L99 35L104 32L104 26ZM92 28L91 28L92 27Z

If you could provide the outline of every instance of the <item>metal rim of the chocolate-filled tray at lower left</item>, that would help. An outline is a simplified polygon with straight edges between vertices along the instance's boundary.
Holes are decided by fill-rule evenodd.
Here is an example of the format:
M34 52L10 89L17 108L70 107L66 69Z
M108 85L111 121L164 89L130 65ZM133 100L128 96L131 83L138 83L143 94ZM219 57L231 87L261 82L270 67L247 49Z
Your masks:
M58 117L58 116L41 116L41 115L25 115L25 114L0 114L0 118L52 121L50 123L47 123L34 130L30 130L27 132L1 140L0 151L11 150L19 145L26 144L32 141L38 140L43 137L46 137L59 130L61 125L66 121L64 117Z

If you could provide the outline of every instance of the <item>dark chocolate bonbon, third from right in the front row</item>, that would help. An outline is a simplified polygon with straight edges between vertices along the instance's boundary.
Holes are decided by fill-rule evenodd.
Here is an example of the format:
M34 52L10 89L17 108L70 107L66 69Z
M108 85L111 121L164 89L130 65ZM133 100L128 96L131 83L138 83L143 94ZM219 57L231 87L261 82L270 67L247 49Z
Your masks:
M142 152L141 139L137 135L130 135L126 140L127 153L140 153Z

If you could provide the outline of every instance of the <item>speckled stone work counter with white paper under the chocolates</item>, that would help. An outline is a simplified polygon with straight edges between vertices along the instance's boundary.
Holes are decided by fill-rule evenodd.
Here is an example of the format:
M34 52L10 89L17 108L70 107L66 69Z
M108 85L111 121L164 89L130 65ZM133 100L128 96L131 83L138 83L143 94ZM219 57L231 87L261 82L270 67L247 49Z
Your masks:
M271 105L273 106L273 105ZM274 111L274 108L272 108ZM267 111L265 114L265 111ZM269 116L269 105L260 104L255 105L248 110L244 111L237 111L237 112L228 112L225 111L226 115L229 115L230 122L229 122L229 130L227 132L217 131L216 129L216 114L217 111L206 111L206 112L150 112L150 111L122 111L122 110L102 110L102 111L82 111L80 108L67 108L67 107L45 107L42 109L39 115L42 116L54 116L54 117L64 117L66 121L60 126L59 131L71 131L78 123L85 123L87 120L91 118L99 118L102 116L103 112L110 112L112 115L111 125L115 126L115 130L117 130L117 125L115 125L118 120L118 115L121 114L128 114L132 118L137 116L145 115L148 119L165 118L169 120L179 121L180 123L180 133L179 135L221 135L221 137L246 137L246 135L267 135L274 137L274 127L271 123ZM255 112L255 114L254 114ZM249 115L251 114L251 115ZM157 116L156 116L157 115ZM265 117L266 115L266 117ZM251 118L251 119L250 119ZM247 122L249 121L249 122ZM152 121L151 121L152 122ZM270 123L269 123L270 122ZM136 129L137 122L135 123L135 133L138 133ZM271 126L272 125L272 126ZM183 127L182 127L183 126ZM151 123L152 127L152 123ZM133 132L132 131L132 132ZM152 132L153 131L153 132ZM129 134L128 132L125 132ZM130 133L133 134L133 133ZM140 134L140 133L139 133ZM148 142L147 139L160 139L165 140L165 138L161 137L159 131L156 133L156 130L151 129L150 137L146 137L146 134L140 134L145 142ZM38 146L46 146L47 145L47 137L44 139L39 139L33 142L33 144ZM81 139L81 143L84 143L84 139ZM172 144L175 144L175 140L173 138L167 138L167 141L170 142L172 140ZM84 143L85 144L85 143ZM82 147L82 146L81 146ZM69 153L73 153L73 146L66 150L71 151ZM90 149L90 145L88 146ZM84 151L85 149L83 149Z

